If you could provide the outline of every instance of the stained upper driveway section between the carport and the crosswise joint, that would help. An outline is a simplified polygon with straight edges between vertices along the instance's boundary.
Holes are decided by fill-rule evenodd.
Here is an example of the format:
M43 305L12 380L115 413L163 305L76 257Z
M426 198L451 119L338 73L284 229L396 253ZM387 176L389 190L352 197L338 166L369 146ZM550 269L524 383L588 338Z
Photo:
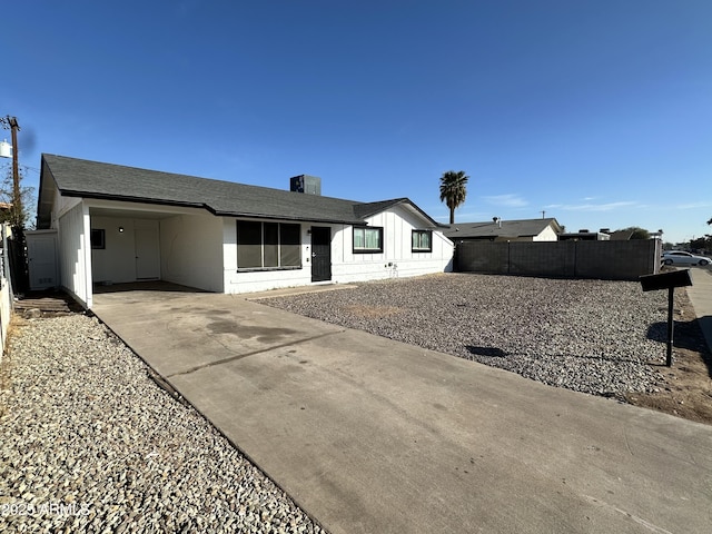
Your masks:
M234 295L126 291L95 296L93 312L162 376L290 345L338 327L289 314L283 323Z

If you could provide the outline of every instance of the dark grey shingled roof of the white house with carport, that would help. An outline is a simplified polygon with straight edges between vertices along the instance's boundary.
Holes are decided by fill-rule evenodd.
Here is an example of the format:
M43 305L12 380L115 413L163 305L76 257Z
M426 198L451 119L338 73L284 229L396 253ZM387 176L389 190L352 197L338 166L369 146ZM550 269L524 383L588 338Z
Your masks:
M405 204L432 226L441 226L407 198L357 202L43 154L38 228L49 227L51 188L44 186L49 178L68 197L196 207L216 216L358 225L372 215Z

